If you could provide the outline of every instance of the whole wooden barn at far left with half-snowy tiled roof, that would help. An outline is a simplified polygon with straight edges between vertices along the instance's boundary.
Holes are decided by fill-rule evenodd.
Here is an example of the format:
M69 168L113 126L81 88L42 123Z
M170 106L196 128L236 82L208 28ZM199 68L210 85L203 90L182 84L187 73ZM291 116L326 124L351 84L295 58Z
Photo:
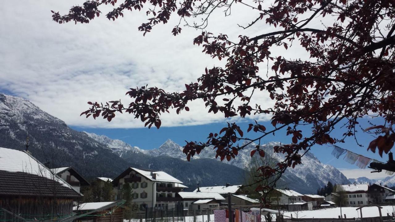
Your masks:
M0 178L4 220L15 220L15 215L21 220L51 220L47 215L69 215L73 201L82 198L28 151L0 147Z

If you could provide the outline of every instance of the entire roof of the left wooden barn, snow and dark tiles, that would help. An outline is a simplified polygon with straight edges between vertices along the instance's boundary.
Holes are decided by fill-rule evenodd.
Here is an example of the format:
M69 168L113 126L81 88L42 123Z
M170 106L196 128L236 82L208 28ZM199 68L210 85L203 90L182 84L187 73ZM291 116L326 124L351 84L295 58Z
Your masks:
M30 152L0 147L0 194L77 198L82 194L54 174Z

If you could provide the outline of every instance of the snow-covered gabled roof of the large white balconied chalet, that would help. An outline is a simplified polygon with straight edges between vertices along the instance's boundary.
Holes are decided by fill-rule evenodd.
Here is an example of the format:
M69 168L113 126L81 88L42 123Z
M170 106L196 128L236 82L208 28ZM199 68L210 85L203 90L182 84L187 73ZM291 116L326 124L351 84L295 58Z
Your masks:
M116 177L113 180L113 184L116 185L119 182L119 179L125 177L132 171L135 171L136 173L138 173L139 175L141 175L142 177L145 177L146 179L148 179L150 181L174 182L174 183L181 183L182 184L181 181L179 181L175 177L172 177L171 175L169 175L168 173L166 173L164 171L155 171L155 170L150 170L150 169L138 169L138 168L134 168L134 167L129 167L124 172L122 172L118 177ZM153 174L156 174L155 179L153 177Z

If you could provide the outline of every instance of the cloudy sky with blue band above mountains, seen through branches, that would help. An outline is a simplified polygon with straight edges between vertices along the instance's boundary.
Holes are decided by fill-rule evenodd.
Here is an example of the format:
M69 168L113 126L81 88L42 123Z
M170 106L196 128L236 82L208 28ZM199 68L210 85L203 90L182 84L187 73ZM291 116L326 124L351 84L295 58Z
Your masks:
M193 45L193 38L201 30L182 27L181 35L172 36L171 30L178 22L155 26L143 37L137 27L145 22L145 10L124 13L124 18L108 21L103 15L89 24L57 24L52 21L51 10L66 13L70 6L81 4L72 1L4 1L0 8L0 92L21 96L38 105L49 114L64 120L76 130L107 135L121 139L142 149L159 147L166 139L183 145L184 140L204 141L209 132L218 132L224 122L237 122L246 130L252 119L269 126L270 116L259 115L248 119L224 119L221 115L208 113L203 102L192 102L189 112L162 116L162 127L144 128L139 120L130 115L120 115L110 123L106 120L80 117L88 109L88 101L127 102L125 93L129 88L144 85L163 88L167 92L179 91L184 83L196 81L205 67L219 66L223 61L213 60ZM101 10L109 11L106 6ZM247 13L248 12L248 13ZM241 33L255 36L274 30L269 26L253 26L247 30L237 24L248 24L253 13L238 6L231 16L214 13L207 30L226 33L235 39ZM320 24L317 24L320 25ZM308 58L308 53L297 45L285 51L276 48L289 58ZM269 67L270 64L269 64ZM266 73L266 64L260 69ZM270 71L270 70L269 70ZM269 74L270 75L270 74ZM255 98L261 104L270 105L267 94ZM369 126L369 119L360 121ZM380 121L380 119L370 120ZM304 129L307 130L308 128ZM342 134L339 130L339 137ZM359 147L350 138L340 145L345 149L381 159L378 154L366 151L372 140L370 135L360 133ZM290 137L277 133L266 141L290 143ZM318 159L339 168L347 177L366 176L371 179L386 177L384 173L370 173L331 156L331 147L316 146L312 152Z

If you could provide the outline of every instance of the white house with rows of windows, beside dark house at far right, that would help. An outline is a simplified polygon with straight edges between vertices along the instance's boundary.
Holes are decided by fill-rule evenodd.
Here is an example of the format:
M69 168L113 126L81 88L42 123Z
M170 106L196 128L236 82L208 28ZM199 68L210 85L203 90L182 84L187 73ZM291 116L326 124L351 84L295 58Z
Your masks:
M369 184L354 183L338 186L341 186L347 194L346 205L344 207L359 207L369 203Z

